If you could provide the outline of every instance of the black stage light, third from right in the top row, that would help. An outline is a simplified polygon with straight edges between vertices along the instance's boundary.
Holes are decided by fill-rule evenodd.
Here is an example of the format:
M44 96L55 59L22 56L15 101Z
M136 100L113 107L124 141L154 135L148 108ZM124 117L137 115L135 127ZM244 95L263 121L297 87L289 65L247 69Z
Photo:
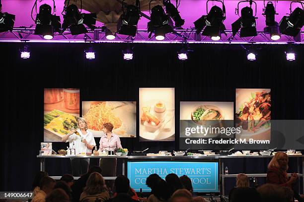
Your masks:
M250 7L246 6L241 9L241 16L231 24L232 27L232 35L235 36L238 30L240 29L240 37L253 37L257 36L256 32L256 2L255 1L239 1L237 3L237 8L235 8L235 14L239 16L239 3L241 2L249 2ZM255 14L253 15L253 9L251 8L252 3L255 4Z

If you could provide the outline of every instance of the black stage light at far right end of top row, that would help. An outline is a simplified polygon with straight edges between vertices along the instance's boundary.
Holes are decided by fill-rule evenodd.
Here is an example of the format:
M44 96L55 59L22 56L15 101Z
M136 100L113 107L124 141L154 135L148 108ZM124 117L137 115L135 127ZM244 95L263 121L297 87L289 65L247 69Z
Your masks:
M302 5L302 8L297 7L292 11L292 3L297 2ZM290 3L290 12L289 16L284 16L279 23L281 34L296 37L301 28L304 25L304 2L301 1L292 1Z

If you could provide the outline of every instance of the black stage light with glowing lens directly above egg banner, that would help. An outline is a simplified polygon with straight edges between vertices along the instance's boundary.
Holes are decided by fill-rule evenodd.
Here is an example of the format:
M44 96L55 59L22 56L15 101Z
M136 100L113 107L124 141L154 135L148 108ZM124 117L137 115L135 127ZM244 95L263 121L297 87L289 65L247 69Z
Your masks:
M156 40L163 40L165 34L173 31L173 22L171 18L164 13L161 5L156 5L151 10L151 21L148 22L149 38L152 32L155 34Z

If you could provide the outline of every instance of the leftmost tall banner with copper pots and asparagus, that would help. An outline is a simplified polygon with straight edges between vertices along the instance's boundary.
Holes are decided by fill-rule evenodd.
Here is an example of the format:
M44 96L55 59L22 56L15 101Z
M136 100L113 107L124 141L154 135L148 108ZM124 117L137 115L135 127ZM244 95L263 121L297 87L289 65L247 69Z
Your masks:
M61 142L71 128L77 129L79 89L44 89L44 141Z

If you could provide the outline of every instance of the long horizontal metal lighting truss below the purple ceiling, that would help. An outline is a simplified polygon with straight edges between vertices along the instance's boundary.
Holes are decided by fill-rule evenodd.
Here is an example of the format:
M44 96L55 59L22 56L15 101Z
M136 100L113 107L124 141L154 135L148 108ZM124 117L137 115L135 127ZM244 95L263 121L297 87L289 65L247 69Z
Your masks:
M301 31L298 38L293 38L287 35L281 35L281 38L277 41L273 41L269 38L269 35L264 33L264 30L257 31L257 36L241 38L239 33L236 33L232 37L231 30L225 30L227 36L222 35L222 39L219 41L213 41L208 36L201 36L197 34L195 30L174 30L175 33L166 34L166 37L162 41L157 41L154 37L149 38L147 29L139 29L136 32L135 37L125 36L116 33L115 39L106 39L105 28L96 28L94 31L88 30L88 33L72 36L69 29L62 34L54 34L52 40L41 39L41 36L34 35L34 28L13 28L12 32L4 32L0 34L0 42L41 42L41 43L84 43L84 42L96 42L96 43L178 43L182 44L187 39L189 44L304 44L304 31Z

